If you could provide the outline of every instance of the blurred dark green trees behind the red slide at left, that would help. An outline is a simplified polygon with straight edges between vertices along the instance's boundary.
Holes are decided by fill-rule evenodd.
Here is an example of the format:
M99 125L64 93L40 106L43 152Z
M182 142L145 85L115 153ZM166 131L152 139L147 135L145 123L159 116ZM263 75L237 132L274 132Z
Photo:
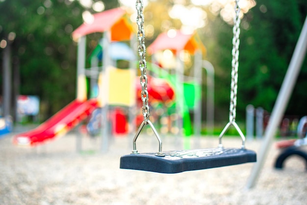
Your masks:
M81 2L0 0L0 40L16 34L12 55L20 62L20 94L38 95L48 107L46 117L75 98L77 53L71 33L82 24L82 12L94 13L95 2L100 9L118 6L117 0Z

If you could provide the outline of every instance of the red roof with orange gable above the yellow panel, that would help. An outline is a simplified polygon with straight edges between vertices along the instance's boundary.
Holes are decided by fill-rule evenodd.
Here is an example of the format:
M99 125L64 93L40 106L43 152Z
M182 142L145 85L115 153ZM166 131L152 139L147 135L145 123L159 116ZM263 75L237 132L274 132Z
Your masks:
M132 26L126 17L126 11L122 8L114 8L93 15L92 24L83 23L73 32L73 38L77 39L95 32L111 31L112 41L129 40Z

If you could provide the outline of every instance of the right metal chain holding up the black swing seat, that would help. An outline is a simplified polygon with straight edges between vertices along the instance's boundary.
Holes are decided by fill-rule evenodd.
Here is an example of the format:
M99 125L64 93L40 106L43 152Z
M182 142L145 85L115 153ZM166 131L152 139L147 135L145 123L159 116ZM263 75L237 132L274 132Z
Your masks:
M237 83L239 67L239 44L240 44L240 7L239 0L235 0L235 16L233 18L233 38L232 38L232 61L231 61L231 85L230 85L230 112L229 121L235 122L237 105Z

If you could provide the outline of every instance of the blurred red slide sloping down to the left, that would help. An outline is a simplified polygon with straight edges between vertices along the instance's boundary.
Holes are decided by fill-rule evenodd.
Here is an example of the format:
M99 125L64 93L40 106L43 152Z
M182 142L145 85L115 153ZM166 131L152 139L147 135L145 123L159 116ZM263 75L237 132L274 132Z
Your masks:
M96 99L90 99L85 102L75 100L37 128L15 135L13 143L23 146L35 146L56 136L61 136L85 120L96 107Z

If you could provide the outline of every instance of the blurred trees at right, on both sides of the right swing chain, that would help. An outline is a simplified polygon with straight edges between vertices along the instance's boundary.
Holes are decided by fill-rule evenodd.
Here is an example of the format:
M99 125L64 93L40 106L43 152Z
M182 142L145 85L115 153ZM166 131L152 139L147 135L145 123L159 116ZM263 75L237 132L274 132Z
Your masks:
M241 20L237 112L254 104L271 112L307 15L304 0L256 0ZM220 14L219 14L220 16ZM211 18L201 29L208 59L216 69L216 119L229 110L232 25ZM306 115L307 62L305 60L286 114ZM225 118L227 120L227 118Z

